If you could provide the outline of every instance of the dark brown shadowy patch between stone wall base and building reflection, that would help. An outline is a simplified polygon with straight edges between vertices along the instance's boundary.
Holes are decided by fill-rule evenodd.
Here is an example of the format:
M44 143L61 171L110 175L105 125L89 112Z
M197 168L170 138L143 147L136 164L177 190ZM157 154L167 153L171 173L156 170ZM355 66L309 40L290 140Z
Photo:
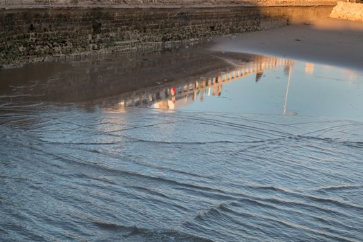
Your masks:
M207 79L252 62L255 55L203 47L156 53L98 55L69 62L1 69L1 102L84 102L153 86Z

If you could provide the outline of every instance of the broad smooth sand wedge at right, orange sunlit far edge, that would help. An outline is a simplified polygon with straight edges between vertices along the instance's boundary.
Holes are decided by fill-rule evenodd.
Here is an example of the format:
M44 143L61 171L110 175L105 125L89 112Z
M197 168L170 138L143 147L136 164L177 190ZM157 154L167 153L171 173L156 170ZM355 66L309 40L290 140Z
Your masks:
M319 19L218 39L213 50L255 53L362 70L363 22Z

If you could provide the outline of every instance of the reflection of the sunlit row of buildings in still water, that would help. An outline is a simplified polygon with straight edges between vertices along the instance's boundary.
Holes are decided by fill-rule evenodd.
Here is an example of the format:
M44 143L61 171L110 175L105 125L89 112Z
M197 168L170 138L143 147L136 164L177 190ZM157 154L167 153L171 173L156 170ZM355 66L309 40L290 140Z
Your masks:
M294 62L288 59L274 57L257 57L253 62L236 66L233 71L222 72L214 77L201 77L194 81L186 81L183 84L173 86L165 84L148 89L142 89L132 93L125 93L119 103L120 106L153 106L158 109L176 109L194 102L199 95L203 102L207 97L220 96L223 84L233 82L241 77L256 74L256 80L261 80L263 71L267 69L285 66L289 70Z

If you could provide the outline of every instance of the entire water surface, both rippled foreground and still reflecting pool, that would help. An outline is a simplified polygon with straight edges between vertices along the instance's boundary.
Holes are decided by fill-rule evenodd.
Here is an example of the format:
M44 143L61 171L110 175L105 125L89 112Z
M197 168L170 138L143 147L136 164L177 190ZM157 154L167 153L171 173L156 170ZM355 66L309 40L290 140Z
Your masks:
M0 241L362 241L362 73L182 54L0 72Z

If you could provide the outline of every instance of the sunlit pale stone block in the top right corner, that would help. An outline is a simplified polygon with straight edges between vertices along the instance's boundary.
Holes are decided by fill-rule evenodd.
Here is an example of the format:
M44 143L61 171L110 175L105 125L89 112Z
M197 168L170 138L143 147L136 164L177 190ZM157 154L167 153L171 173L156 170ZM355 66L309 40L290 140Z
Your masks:
M347 3L339 1L333 8L330 17L336 19L349 19L363 21L363 3Z

